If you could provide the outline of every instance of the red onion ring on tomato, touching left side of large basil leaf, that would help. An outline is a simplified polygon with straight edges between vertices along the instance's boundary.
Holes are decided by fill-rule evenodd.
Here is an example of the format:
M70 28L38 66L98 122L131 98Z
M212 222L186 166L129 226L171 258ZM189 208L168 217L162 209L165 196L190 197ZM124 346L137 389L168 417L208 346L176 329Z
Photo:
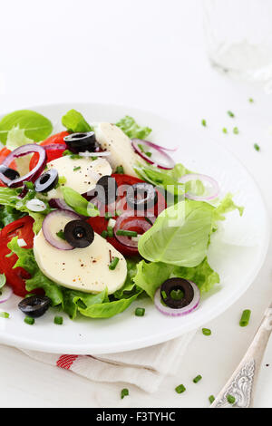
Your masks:
M131 228L140 228L143 231L142 233L144 233L152 227L153 223L156 220L154 216L148 214L146 215L146 217L150 220L150 222L146 220L144 216L132 216L132 212L128 211L126 213L123 213L121 216L119 216L119 218L116 219L116 223L113 228L115 238L123 246L130 247L132 249L134 248L135 253L138 252L138 241L133 241L130 237L117 235L117 231L119 229L131 230Z

